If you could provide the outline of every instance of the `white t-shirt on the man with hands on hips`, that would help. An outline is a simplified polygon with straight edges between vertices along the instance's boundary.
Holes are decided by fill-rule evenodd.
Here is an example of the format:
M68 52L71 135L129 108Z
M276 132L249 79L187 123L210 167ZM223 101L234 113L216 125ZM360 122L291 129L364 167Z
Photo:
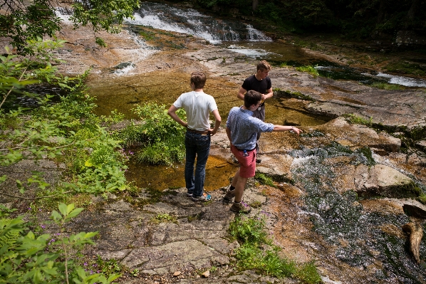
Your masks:
M217 110L214 98L204 92L183 93L173 105L176 108L183 107L187 112L188 128L199 131L210 129L209 113Z

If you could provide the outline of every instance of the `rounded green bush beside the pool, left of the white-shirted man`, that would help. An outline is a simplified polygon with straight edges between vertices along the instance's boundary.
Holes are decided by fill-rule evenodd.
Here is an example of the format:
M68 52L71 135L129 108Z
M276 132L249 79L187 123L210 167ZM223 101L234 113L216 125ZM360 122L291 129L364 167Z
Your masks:
M134 111L142 123L132 122L118 137L124 147L142 147L135 155L138 162L171 164L185 157L185 131L167 115L165 105L147 103L137 105ZM185 120L184 110L176 113Z

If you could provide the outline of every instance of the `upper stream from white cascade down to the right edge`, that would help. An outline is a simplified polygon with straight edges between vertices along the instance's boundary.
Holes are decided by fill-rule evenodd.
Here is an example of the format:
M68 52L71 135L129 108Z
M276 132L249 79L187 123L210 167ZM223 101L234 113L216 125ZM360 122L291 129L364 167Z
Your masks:
M426 86L426 81L421 79L382 73L375 75L328 61L318 61L316 58L310 58L301 53L300 48L296 46L279 43L279 47L277 47L269 36L249 24L214 19L212 16L200 14L194 9L179 9L167 4L142 2L134 16L135 19L128 19L128 23L187 33L237 53L259 60L266 59L275 64L316 65L316 69L321 75L335 80L355 80L365 84L385 81L408 87Z

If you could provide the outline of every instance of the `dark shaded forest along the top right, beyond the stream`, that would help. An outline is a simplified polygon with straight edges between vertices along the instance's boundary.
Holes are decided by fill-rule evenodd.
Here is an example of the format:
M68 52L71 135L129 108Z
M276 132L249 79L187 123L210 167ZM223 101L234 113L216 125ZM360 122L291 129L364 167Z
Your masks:
M193 3L222 15L238 11L291 33L338 33L346 38L363 39L392 37L398 31L413 31L418 35L426 32L426 1L422 0L194 0Z

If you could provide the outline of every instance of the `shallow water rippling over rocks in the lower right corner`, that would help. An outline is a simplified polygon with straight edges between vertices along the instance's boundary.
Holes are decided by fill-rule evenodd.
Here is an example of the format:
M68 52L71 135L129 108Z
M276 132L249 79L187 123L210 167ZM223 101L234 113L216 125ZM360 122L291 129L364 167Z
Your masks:
M405 239L383 229L401 228L409 222L408 216L366 212L354 191L339 193L333 185L336 177L327 159L344 156L355 165L371 165L374 161L370 154L363 149L352 152L337 143L293 150L293 179L306 191L303 213L311 216L313 230L333 247L332 258L362 270L375 267L375 273L365 279L368 283L426 283L425 266L413 261ZM426 258L424 243L420 258Z

